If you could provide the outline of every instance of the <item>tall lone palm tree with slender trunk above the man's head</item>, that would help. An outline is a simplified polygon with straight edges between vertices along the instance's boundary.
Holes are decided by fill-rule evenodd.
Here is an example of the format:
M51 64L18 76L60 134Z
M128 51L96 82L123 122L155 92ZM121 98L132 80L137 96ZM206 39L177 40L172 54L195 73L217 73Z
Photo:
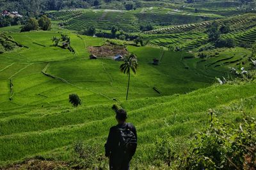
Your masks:
M122 65L120 65L121 72L127 73L127 75L128 75L128 86L127 86L127 92L126 92L126 100L128 99L131 70L134 74L136 74L137 67L138 67L138 62L137 62L136 56L134 54L129 54L129 56L125 56L124 63Z

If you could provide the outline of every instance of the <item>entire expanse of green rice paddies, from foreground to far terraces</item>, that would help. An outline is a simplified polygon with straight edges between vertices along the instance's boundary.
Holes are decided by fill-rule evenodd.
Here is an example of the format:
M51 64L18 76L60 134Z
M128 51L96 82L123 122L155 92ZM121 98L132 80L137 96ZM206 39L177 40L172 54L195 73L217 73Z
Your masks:
M232 67L251 71L252 49L242 44L256 41L252 9L245 10L238 1L141 1L142 7L134 10L124 10L119 1L100 5L45 12L52 31L0 28L19 44L0 54L0 169L108 169L104 143L116 125L113 104L127 110L138 131L131 169L170 169L157 159L157 144L168 137L173 153L188 149L195 133L209 127L209 109L220 121L235 125L244 114L256 116L255 80L223 85L216 80L234 80ZM206 29L214 20L230 26L221 38L232 38L236 47L204 50L206 57L199 58L199 49L210 44ZM140 31L147 24L154 29ZM103 33L117 26L120 32L140 35L145 46L79 35L90 26ZM70 37L74 53L53 45L52 37L61 35ZM127 101L122 61L113 56L90 59L88 47L109 42L122 43L138 59ZM79 107L68 102L72 93L81 98ZM88 154L82 161L74 151L79 141Z

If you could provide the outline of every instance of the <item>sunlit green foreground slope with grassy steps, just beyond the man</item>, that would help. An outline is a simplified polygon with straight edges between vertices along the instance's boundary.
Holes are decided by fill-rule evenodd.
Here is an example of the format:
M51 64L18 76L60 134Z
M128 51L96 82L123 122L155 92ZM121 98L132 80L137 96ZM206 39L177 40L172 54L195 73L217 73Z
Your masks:
M150 162L154 148L152 144L156 142L156 137L165 133L177 138L178 143L179 139L188 139L190 134L207 124L206 112L209 108L218 111L218 116L226 121L241 118L241 112L236 107L241 107L243 111L247 109L247 113L253 112L252 116L255 116L255 89L255 83L212 86L188 95L122 102L122 106L129 111L129 121L138 128L136 160ZM52 150L69 146L79 138L85 143L97 143L103 147L108 128L115 125L114 113L110 108L111 104L78 109L37 107L33 111L27 107L10 111L9 114L15 113L15 116L1 118L2 164L33 155L54 153ZM70 154L65 150L59 149L61 154L63 151L67 154L62 155L63 159Z

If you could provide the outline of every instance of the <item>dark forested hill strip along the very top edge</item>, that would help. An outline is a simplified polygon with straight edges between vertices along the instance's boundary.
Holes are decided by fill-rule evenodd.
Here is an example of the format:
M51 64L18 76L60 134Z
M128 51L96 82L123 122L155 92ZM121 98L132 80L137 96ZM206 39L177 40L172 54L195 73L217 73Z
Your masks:
M186 4L188 6L203 8L207 4L207 8L211 7L237 7L237 6L248 6L252 7L255 5L255 0L236 0L236 1L214 1L207 0L202 1L203 6L200 6L202 0L0 0L0 10L18 11L22 15L35 16L39 13L48 10L63 10L70 8L105 8L115 10L133 10L135 8L149 7L149 6L164 6L169 8L177 8L180 4ZM179 5L178 5L179 4Z

